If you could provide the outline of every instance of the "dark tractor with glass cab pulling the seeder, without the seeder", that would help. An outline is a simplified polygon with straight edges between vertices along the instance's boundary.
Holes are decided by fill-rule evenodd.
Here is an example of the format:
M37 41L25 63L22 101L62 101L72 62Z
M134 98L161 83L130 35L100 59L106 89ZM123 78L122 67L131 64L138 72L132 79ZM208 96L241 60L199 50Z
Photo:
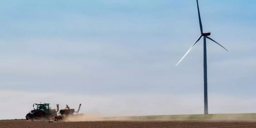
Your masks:
M34 108L36 105L36 108ZM44 120L57 116L59 112L59 104L57 104L57 110L51 109L49 103L33 104L34 110L31 110L26 115L26 120L33 121L34 119Z

